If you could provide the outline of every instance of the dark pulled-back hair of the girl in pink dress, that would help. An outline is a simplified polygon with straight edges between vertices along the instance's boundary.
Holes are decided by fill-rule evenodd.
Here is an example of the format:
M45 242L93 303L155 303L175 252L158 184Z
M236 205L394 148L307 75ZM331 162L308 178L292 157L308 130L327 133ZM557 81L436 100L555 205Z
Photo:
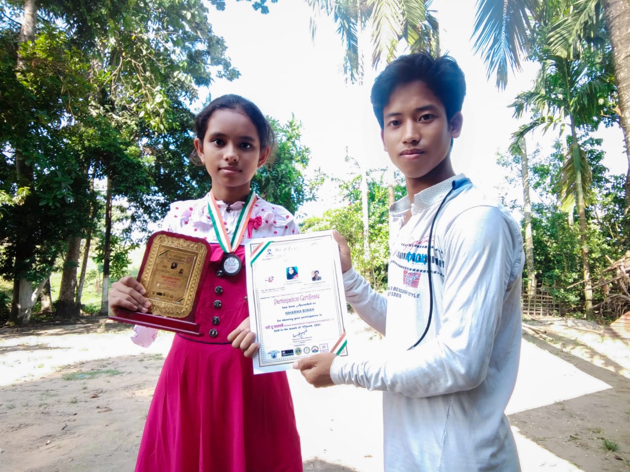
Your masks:
M240 95L222 95L219 98L212 100L205 106L205 108L203 108L202 111L200 111L200 113L195 117L195 133L197 134L199 140L203 143L203 137L208 129L208 121L210 121L212 114L217 110L223 109L240 111L248 116L249 120L251 120L251 122L254 123L254 126L256 126L258 140L260 140L260 149L265 149L265 147L270 148L272 150L270 153L271 158L274 150L273 148L275 147L275 135L273 134L272 126L269 124L269 121L267 121L265 115L263 115L258 106ZM190 155L190 160L196 166L203 165L197 155L197 152L195 151L193 151ZM268 162L270 162L270 160L271 159L268 159Z

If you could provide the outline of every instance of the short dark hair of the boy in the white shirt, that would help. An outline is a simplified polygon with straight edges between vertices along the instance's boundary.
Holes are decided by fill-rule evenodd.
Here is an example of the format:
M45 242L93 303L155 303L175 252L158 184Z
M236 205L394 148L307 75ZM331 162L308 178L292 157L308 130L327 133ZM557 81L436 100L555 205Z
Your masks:
M415 81L423 82L440 99L449 121L462 110L466 79L455 59L447 55L434 58L426 52L408 54L387 65L372 86L370 100L381 130L384 126L383 110L391 94L396 87Z

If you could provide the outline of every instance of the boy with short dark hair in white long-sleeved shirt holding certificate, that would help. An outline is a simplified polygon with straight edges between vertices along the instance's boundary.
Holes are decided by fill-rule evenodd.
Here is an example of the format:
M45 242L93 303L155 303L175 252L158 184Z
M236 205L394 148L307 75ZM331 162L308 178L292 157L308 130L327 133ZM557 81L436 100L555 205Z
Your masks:
M338 235L346 297L386 335L386 356L295 362L314 386L382 390L386 471L519 471L503 411L521 338L523 249L509 213L450 162L464 74L450 57L400 57L372 87L384 149L407 196L391 206L386 296Z

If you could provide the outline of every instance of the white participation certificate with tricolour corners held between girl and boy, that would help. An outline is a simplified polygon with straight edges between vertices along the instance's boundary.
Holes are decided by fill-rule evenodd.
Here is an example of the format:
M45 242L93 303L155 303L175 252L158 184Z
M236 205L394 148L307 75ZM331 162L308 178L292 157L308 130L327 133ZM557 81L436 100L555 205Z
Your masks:
M333 232L245 242L254 373L284 371L318 352L348 354L346 299Z

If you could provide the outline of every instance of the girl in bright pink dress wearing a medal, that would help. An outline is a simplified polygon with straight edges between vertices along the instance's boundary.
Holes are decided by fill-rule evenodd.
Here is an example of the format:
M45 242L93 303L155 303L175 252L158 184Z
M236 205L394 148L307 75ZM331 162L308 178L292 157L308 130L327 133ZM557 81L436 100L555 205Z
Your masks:
M173 203L163 229L210 242L211 267L195 313L203 337L175 335L135 471L302 471L286 374L254 376L251 359L231 346L233 341L246 352L258 348L249 332L244 248L232 235L243 225L250 238L297 232L287 210L249 186L270 155L273 131L258 107L237 95L212 101L195 119L195 130L191 159L205 166L212 189L204 198ZM134 278L122 278L112 285L110 308L149 312L145 293ZM157 334L139 326L134 332L141 346Z

